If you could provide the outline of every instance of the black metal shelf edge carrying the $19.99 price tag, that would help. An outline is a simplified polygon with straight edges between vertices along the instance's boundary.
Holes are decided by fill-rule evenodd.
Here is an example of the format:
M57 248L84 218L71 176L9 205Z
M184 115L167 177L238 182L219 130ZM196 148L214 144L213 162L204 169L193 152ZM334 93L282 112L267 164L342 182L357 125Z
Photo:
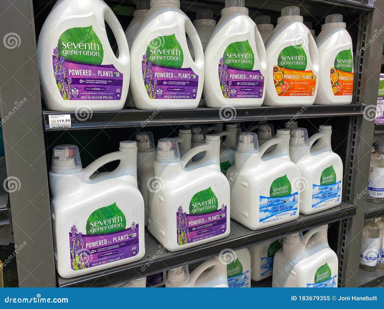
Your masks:
M311 105L306 108L296 107L252 107L252 108L195 108L179 110L139 110L126 108L109 112L89 112L80 115L76 112L52 112L43 110L44 125L46 131L73 130L90 128L122 128L142 127L157 125L180 125L204 122L225 121L249 121L249 120L273 120L295 118L314 118L332 116L361 115L365 105ZM70 114L71 128L50 129L49 115ZM234 115L234 116L233 116ZM151 119L151 120L149 120Z

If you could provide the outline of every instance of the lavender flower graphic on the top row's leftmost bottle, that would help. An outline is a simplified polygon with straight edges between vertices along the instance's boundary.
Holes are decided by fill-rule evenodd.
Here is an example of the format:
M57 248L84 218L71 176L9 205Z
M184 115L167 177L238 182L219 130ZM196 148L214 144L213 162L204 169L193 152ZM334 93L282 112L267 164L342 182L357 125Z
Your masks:
M60 53L55 47L53 49L53 56L56 58L53 60L53 73L55 74L55 79L57 87L60 91L64 100L71 99L71 90L74 86L72 84L72 76L68 75L68 69L64 66L65 58L60 56Z

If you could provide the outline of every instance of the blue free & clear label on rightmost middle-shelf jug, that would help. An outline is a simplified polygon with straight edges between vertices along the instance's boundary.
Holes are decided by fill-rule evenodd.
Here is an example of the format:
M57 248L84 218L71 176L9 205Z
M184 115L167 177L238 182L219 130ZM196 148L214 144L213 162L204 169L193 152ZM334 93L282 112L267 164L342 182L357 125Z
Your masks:
M312 208L328 206L341 199L341 180L325 186L312 185Z

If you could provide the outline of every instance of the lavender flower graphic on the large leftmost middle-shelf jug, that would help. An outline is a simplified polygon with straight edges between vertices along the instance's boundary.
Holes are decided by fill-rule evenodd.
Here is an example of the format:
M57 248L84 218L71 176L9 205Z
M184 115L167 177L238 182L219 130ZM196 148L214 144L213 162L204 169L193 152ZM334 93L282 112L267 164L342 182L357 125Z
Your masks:
M85 240L81 232L77 232L76 226L71 227L71 241L70 241L70 251L72 255L72 269L73 270L82 270L89 267L89 262L91 261L89 255L84 250Z

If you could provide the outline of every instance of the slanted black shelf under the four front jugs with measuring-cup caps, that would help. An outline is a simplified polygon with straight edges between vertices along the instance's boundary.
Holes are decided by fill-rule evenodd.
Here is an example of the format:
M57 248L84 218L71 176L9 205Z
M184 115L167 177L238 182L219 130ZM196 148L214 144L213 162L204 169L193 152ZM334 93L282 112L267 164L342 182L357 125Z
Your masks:
M292 222L257 231L231 220L231 234L228 237L177 252L166 251L149 232L146 232L146 256L141 260L72 279L58 276L58 285L60 287L104 287L124 283L177 266L206 260L219 255L223 249L238 250L319 225L347 219L356 215L356 209L356 206L342 202L341 205L332 209L312 215L300 215Z

